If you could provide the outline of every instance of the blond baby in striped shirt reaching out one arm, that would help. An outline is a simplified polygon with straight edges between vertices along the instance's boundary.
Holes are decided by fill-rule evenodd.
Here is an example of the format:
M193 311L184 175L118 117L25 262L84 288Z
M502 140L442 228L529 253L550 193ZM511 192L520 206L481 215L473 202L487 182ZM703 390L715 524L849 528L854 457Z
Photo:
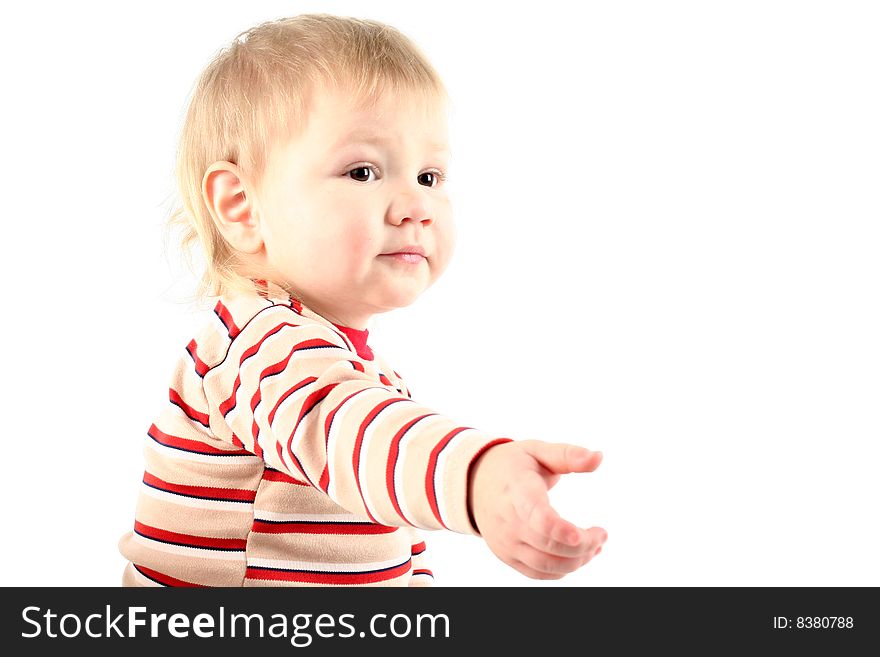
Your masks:
M452 255L446 106L369 20L265 23L203 72L173 219L219 300L149 429L124 585L429 585L416 528L481 536L537 579L601 550L547 494L600 452L462 426L368 345Z

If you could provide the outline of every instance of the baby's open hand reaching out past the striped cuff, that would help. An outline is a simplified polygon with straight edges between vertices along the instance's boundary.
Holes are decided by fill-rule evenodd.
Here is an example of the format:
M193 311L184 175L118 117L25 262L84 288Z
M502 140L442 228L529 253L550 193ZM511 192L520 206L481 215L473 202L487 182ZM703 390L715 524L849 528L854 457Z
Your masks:
M592 472L601 452L520 440L495 445L471 466L468 502L477 529L501 561L534 579L560 579L602 549L601 527L581 529L550 506L560 475Z

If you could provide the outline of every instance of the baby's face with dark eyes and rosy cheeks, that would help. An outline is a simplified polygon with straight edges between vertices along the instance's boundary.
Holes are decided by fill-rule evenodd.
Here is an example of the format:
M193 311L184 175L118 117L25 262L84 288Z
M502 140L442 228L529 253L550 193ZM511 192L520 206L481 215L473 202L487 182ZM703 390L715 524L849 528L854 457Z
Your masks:
M305 130L274 149L259 195L267 264L312 310L366 328L446 269L454 227L445 111L386 96L358 109L320 91ZM409 262L389 254L421 247Z

